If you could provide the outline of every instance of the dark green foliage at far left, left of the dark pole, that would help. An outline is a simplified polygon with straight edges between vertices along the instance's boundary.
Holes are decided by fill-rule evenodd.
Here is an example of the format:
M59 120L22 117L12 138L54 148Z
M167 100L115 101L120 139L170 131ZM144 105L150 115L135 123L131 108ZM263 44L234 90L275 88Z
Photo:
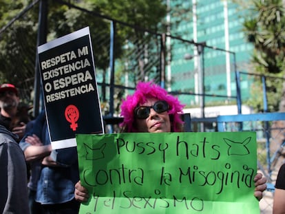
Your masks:
M1 1L1 28L26 6L28 6L27 1L15 3ZM37 17L34 17L34 14L38 14L38 12L32 10L30 13L23 14L0 34L0 83L10 82L19 88L28 89L29 85L33 84L31 78L34 76L37 31L35 28ZM29 76L29 78L23 78L23 76Z

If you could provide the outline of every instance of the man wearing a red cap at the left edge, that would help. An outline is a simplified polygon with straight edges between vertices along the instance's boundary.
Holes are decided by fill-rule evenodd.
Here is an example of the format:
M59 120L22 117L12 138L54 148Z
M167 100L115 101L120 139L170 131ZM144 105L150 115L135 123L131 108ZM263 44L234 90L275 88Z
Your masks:
M20 102L17 88L10 83L0 85L0 125L19 136L19 140L25 134L25 123L20 122L16 127L12 127L13 119L17 116Z

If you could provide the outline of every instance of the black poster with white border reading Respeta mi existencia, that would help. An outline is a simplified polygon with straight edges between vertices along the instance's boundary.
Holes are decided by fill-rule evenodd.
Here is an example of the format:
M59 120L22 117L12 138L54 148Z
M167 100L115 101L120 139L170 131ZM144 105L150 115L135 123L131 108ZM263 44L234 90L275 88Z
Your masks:
M76 133L103 133L89 28L38 47L52 149L75 147Z

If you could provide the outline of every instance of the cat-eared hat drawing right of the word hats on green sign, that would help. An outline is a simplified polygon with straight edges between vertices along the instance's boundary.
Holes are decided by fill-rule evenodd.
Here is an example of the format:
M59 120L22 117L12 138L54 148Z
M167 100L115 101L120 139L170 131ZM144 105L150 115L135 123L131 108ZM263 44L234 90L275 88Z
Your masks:
M246 138L243 142L233 141L224 138L224 142L229 145L228 156L246 156L249 154L249 149L246 145L251 141L251 137Z

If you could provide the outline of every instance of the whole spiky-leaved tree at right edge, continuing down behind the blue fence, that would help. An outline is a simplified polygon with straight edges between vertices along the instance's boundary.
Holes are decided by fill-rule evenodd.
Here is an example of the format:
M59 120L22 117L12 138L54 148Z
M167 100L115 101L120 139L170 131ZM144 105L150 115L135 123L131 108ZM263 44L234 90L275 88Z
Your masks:
M246 16L243 25L247 41L254 45L251 62L255 72L284 76L285 10L282 0L236 2L251 12ZM270 78L270 81L266 81L268 109L285 111L285 85L282 89L282 81L272 80ZM260 83L260 79L257 83ZM262 104L256 103L256 106L262 106ZM261 109L257 108L258 110Z

